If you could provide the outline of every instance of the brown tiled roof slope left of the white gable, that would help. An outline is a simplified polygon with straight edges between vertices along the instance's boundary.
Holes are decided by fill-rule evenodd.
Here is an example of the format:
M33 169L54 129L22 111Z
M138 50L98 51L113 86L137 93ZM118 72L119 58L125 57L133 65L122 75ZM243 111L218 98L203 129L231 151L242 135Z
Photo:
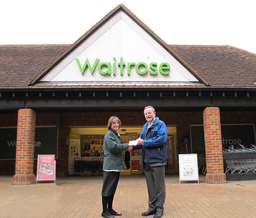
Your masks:
M71 45L1 45L0 89L28 88Z

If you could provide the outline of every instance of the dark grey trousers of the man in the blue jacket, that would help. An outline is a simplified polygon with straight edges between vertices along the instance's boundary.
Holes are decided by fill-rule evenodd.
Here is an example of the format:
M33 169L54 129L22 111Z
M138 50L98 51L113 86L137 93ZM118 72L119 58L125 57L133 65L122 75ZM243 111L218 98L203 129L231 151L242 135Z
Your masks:
M166 166L150 166L149 163L144 163L150 210L163 212L166 201L165 171Z

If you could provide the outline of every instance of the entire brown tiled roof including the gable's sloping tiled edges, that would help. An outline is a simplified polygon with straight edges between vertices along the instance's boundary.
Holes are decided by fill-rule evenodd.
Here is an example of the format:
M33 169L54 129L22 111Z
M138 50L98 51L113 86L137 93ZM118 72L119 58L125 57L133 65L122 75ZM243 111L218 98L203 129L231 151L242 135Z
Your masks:
M207 88L256 88L256 55L229 46L179 46L167 45L159 36L144 25L138 17L133 15L123 4L103 17L96 25L81 36L72 45L7 45L0 46L0 89L39 89L102 87L104 84L37 84L55 65L58 65L66 55L79 47L83 41L104 25L117 12L123 10L131 19L144 29L153 39L174 55L182 65L187 66L190 73L200 82L177 84L152 84L152 86L179 86ZM32 84L32 85L31 85ZM137 84L114 84L117 87L141 87ZM208 86L209 85L209 86ZM107 85L111 87L111 84Z

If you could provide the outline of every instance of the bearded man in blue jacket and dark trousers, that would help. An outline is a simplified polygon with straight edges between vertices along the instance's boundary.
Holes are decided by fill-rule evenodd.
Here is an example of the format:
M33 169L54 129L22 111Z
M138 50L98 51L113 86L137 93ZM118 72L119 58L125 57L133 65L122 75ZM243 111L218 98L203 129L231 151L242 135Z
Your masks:
M166 124L155 116L152 106L144 108L147 123L144 124L138 145L133 149L142 149L142 162L147 181L149 209L142 213L143 217L163 216L163 204L166 199L165 171L167 166L167 129Z

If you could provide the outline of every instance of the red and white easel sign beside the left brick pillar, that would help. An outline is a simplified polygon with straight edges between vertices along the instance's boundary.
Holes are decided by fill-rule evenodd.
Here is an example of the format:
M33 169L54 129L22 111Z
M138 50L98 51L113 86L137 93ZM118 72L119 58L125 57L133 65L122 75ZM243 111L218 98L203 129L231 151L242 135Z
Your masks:
M36 183L40 180L54 180L56 182L55 169L55 155L38 155Z

